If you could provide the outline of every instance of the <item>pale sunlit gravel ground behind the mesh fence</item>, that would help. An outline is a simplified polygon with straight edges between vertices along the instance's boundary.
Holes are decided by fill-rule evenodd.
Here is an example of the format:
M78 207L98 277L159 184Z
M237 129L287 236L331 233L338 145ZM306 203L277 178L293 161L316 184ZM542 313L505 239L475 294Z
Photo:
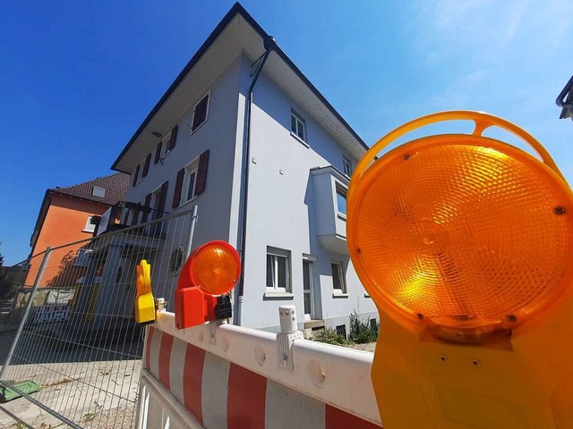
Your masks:
M13 332L0 332L0 362L12 340ZM31 345L44 349L42 346L40 341ZM11 365L7 379L34 380L41 384L42 391L31 397L82 427L134 426L141 359L103 360L107 353L87 353L81 349L55 349L41 356L46 359L40 363ZM0 428L26 427L53 429L67 425L25 398L0 404Z

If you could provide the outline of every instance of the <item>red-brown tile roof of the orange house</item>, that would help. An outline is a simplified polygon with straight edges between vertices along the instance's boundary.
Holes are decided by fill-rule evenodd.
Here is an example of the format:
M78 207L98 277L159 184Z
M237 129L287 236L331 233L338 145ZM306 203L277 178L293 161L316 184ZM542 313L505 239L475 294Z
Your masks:
M98 177L92 181L84 181L83 183L68 186L67 188L56 187L48 190L59 194L71 195L76 198L98 201L98 203L113 206L117 201L125 201L125 195L127 194L127 188L129 186L129 178L129 174L116 172L109 176ZM105 189L105 196L97 197L93 195L94 187Z

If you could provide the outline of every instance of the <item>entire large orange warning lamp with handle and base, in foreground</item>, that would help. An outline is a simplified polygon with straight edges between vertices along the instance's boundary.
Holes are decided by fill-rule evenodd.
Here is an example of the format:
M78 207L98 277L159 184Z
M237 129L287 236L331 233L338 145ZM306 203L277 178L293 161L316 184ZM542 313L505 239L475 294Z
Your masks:
M376 158L452 120L475 130ZM543 146L490 114L431 114L372 146L347 200L350 256L381 315L384 427L573 427L573 195Z

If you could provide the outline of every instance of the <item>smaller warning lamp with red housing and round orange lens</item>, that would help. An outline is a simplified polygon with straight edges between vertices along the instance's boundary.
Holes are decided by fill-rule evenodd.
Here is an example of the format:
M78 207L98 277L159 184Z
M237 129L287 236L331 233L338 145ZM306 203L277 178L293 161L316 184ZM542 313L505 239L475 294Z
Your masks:
M177 282L175 328L190 328L219 318L218 297L233 289L240 274L239 255L226 241L210 241L196 248Z

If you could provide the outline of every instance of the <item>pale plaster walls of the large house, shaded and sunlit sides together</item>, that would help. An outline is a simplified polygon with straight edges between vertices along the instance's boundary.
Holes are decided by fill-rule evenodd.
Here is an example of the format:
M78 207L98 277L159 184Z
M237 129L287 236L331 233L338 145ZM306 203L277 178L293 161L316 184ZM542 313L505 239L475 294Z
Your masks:
M238 242L241 206L241 164L244 141L244 107L252 78L252 60L240 55L209 87L196 88L189 94L189 108L162 132L179 126L177 142L164 164L150 164L148 175L127 193L128 201L143 202L145 196L169 181L166 210L173 214L199 206L199 223L193 247L209 240ZM192 108L210 90L209 120L189 134ZM290 112L295 109L306 122L305 146L290 134ZM205 191L191 203L171 208L178 170L196 156L210 149ZM152 161L153 161L152 155ZM295 304L303 321L303 254L316 257L314 295L317 318L327 324L347 323L356 310L362 315L376 315L372 300L364 297L354 268L346 255L323 248L316 239L315 211L324 195L314 195L310 171L314 167L333 165L343 170L343 156L355 165L357 160L323 130L312 115L304 112L278 85L264 74L254 90L252 106L252 147L249 190L248 233L245 260L245 287L242 324L278 329L278 307ZM252 162L255 159L256 164ZM282 171L282 173L281 173ZM332 198L330 195L328 198ZM332 203L330 203L332 204ZM291 251L293 296L269 298L266 293L267 246ZM168 257L168 255L167 255ZM334 298L331 261L341 261L346 268L346 297ZM162 264L166 266L165 264ZM175 283L174 283L175 285ZM175 286L174 286L175 287ZM173 302L173 290L166 292Z

